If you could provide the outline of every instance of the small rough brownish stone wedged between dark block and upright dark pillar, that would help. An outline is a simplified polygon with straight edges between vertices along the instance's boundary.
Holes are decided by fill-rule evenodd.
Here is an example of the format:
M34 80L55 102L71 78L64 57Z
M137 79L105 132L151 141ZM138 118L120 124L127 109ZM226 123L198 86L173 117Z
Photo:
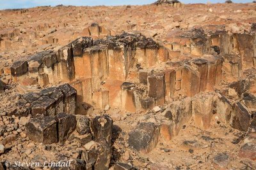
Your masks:
M76 115L76 131L83 135L90 133L90 119L84 115Z

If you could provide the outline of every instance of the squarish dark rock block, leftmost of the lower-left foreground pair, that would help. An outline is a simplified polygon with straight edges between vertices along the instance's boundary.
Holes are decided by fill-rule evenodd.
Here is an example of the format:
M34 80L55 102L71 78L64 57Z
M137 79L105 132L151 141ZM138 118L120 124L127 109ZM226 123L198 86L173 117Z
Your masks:
M31 118L26 124L26 136L36 143L58 143L58 132L55 118Z

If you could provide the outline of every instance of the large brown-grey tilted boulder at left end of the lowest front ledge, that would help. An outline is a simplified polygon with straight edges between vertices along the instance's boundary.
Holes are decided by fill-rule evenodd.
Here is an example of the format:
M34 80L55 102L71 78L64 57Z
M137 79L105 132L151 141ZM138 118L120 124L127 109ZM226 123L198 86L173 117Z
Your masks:
M148 153L157 145L160 127L151 122L141 122L129 133L129 146L143 153Z

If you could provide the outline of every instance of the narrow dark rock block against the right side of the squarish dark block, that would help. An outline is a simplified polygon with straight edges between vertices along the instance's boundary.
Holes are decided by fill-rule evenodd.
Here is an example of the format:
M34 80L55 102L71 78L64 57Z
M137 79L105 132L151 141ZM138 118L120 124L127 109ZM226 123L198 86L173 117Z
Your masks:
M58 125L58 139L60 142L65 142L76 129L76 116L60 113L56 116L56 120Z

